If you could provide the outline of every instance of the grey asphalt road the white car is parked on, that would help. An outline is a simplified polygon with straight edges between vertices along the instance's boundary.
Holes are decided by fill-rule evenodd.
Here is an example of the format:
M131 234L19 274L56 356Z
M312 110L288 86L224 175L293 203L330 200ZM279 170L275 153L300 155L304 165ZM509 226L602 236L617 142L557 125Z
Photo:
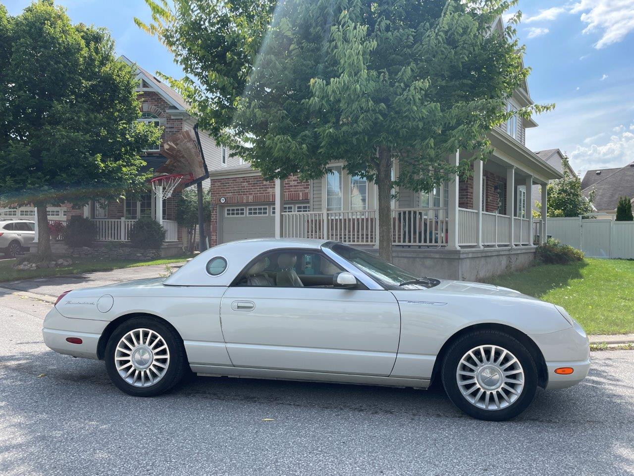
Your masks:
M585 383L505 423L439 388L197 378L140 399L44 346L49 307L0 294L2 475L634 474L634 352L593 353Z

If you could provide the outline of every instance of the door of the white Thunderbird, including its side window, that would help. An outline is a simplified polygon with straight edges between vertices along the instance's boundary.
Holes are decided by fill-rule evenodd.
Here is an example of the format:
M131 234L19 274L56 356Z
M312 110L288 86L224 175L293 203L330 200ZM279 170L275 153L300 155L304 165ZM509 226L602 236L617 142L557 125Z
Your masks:
M253 263L221 303L233 365L388 376L400 333L396 298L334 288L341 271L312 251L278 250Z

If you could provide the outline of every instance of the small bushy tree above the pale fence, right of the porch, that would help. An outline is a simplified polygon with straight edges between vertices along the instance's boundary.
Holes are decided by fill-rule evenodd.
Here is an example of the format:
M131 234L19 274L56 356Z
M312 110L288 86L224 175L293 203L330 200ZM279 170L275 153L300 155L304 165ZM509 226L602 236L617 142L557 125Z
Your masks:
M585 197L581 193L581 179L577 175L570 175L569 159L564 155L562 165L564 178L553 180L548 184L547 215L550 217L579 216L592 213L595 192ZM541 211L541 204L536 204ZM541 213L540 215L541 216Z

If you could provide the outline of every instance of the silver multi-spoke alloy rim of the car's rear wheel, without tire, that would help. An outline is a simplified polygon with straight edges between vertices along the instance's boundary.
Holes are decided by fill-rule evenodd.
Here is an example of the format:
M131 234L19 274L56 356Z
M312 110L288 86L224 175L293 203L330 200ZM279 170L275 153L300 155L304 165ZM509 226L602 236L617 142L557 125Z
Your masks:
M117 343L115 366L123 380L134 387L150 387L169 367L169 348L152 329L133 329Z

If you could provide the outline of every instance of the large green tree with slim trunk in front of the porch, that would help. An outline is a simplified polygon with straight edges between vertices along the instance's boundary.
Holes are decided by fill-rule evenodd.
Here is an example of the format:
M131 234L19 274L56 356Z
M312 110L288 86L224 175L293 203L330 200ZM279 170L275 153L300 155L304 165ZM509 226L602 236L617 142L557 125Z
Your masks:
M469 175L491 154L486 135L510 117L505 102L529 74L516 39L521 15L492 30L515 1L145 1L153 23L137 22L188 74L171 84L201 127L266 180L317 179L338 159L377 183L388 260L391 190L429 191Z

